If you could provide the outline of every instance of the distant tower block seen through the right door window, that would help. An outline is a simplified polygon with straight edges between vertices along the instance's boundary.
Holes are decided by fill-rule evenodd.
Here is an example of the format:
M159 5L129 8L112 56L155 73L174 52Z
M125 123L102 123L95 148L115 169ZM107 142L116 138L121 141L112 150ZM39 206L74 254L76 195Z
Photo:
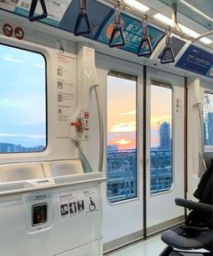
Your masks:
M171 128L169 122L160 126L160 148L171 148Z

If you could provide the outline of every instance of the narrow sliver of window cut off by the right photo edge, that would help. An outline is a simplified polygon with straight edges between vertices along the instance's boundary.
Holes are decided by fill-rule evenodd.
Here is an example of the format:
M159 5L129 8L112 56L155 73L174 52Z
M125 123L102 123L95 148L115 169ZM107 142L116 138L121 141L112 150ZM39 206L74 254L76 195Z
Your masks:
M213 94L203 95L204 145L213 146Z

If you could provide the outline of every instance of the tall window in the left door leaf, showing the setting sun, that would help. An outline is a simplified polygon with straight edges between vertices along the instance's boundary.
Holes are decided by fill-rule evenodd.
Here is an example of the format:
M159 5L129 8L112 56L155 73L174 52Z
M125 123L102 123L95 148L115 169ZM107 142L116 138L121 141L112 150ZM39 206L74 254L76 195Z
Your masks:
M137 196L136 84L134 76L107 76L107 197L109 202Z

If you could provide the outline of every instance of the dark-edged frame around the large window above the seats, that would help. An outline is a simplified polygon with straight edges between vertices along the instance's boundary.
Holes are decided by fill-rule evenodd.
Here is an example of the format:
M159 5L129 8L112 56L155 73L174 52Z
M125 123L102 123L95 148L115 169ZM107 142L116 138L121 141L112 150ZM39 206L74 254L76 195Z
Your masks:
M43 52L33 50L32 47L29 47L29 48L23 47L23 44L22 44L22 46L17 46L17 45L11 44L11 43L0 43L0 47L1 47L1 45L11 47L11 48L14 48L14 49L17 49L17 50L37 53L37 54L42 55L42 57L43 57L44 67L45 67L45 77L44 77L44 79L45 79L45 84L44 84L44 86L45 86L45 88L44 88L44 92L45 92L45 97L44 97L44 100L45 100L45 111L44 111L44 114L45 114L45 124L44 124L45 125L45 147L43 148L42 151L0 152L0 156L4 156L4 155L11 156L12 154L14 154L15 156L17 156L18 154L24 154L24 155L42 154L47 150L48 143L49 143L49 140L48 140L48 86L47 86L47 80L48 80L48 77L47 77L47 72L48 71L47 71L47 69L48 69L48 66L47 66L47 58L46 58L46 56Z

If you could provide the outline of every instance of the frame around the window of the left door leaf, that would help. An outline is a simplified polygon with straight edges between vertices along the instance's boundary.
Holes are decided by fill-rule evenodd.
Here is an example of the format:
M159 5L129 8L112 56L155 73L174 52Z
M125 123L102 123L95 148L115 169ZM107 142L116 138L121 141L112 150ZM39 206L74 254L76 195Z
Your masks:
M108 105L108 101L107 101L107 78L109 76L115 77L115 78L120 78L120 79L125 79L125 80L129 80L129 81L135 81L135 121L136 121L136 125L135 125L135 196L131 197L131 198L125 198L116 202L110 202L109 198L108 198L108 163L107 163L107 105ZM111 206L116 205L116 204L125 204L125 203L129 203L131 201L135 201L138 200L138 196L139 196L139 167L138 167L138 75L136 74L131 74L123 71L116 71L115 69L109 70L106 74L106 201L108 204L110 204Z

